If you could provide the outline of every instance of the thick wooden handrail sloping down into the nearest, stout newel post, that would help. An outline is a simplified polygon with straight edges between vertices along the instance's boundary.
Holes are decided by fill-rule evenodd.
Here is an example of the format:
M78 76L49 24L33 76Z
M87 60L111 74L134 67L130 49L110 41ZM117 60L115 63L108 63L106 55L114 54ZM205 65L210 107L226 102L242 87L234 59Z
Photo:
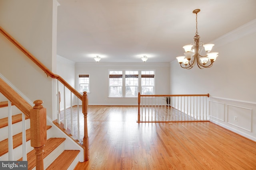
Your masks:
M0 78L0 93L12 102L22 113L30 117L30 110L33 108L15 90L13 90L2 78Z

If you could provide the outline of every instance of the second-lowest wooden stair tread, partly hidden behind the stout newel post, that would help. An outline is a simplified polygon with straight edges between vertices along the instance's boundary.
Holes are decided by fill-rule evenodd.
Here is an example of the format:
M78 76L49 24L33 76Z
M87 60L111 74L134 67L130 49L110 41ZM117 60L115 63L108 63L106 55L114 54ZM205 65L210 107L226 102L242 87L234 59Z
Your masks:
M56 149L62 142L64 142L66 138L50 138L47 140L47 143L44 145L44 154L43 157L45 158L50 154L54 149ZM33 149L27 154L27 160L28 160L28 169L32 169L36 166L36 152ZM20 158L18 161L22 161L22 158Z

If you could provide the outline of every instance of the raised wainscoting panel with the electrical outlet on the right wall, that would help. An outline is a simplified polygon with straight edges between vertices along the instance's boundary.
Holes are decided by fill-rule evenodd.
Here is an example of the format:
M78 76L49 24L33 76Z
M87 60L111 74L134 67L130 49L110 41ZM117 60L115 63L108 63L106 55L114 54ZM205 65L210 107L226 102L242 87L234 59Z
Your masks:
M252 109L228 106L228 123L252 132Z

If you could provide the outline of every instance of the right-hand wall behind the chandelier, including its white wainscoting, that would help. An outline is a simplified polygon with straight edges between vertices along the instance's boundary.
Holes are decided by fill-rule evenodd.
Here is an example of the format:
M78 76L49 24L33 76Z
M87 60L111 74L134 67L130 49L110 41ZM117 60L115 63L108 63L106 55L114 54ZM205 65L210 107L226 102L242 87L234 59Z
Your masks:
M186 70L181 68L177 61L170 63L172 94L209 93L212 96L210 106L211 104L216 106L214 110L210 109L211 121L253 140L256 140L256 120L253 118L256 116L255 27L256 20L253 20L216 39L214 41L216 46L212 51L219 52L219 56L211 68L200 70L194 66ZM227 109L229 105L241 105L243 108L251 109L252 116L248 118L250 111L248 113L242 112L241 109L236 111L233 107L230 111ZM238 121L234 122L235 115L238 116ZM219 116L225 119L219 119ZM251 125L250 130L244 130L242 127L248 124Z

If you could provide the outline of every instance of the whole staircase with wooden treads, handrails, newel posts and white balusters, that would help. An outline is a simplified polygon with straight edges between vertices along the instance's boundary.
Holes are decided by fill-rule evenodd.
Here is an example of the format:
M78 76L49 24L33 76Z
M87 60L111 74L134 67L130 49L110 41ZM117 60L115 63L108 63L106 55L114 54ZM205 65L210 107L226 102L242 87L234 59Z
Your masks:
M0 27L0 33L2 33L10 42L15 45L24 55L26 55L34 64L38 66L38 68L42 69L47 75L47 77L56 79L58 89L58 83L62 83L64 88L70 90L70 92L76 96L77 104L79 101L82 102L82 113L84 114L84 138L82 146L80 143L77 143L73 139L70 138L70 135L65 134L61 131L51 120L51 118L47 117L46 109L41 104L35 103L38 101L34 101L35 106L29 99L22 95L18 89L15 88L2 74L0 74L0 161L8 160L8 128L6 122L8 122L8 102L6 99L10 100L15 106L12 106L12 110L18 110L17 112L12 112L12 134L13 134L13 152L14 152L14 160L22 160L22 121L20 119L21 115L24 113L31 119L27 119L26 124L26 153L28 160L28 169L35 169L34 167L34 158L36 157L36 165L37 167L44 167L44 169L56 169L56 167L60 167L57 169L73 169L75 165L79 162L84 162L89 159L89 138L87 131L87 113L88 113L88 96L86 92L81 95L78 91L76 91L68 82L66 82L61 76L54 74L51 72L44 64L42 64L34 55L32 55L28 50L26 50L18 41L16 41L10 34L8 34L2 27ZM11 45L10 45L11 46ZM8 83L6 83L8 82ZM14 89L15 88L15 89ZM65 91L65 90L64 90ZM57 90L59 92L59 90ZM6 98L2 98L2 95ZM71 95L72 96L72 95ZM36 98L40 98L40 96L36 96ZM59 98L58 104L60 102ZM72 101L70 102L72 106ZM40 105L40 106L39 106ZM54 105L54 103L52 104ZM33 106L35 108L33 108ZM9 106L8 106L9 107ZM16 108L18 107L18 109ZM60 108L60 107L58 107ZM43 109L44 111L40 112ZM22 112L22 114L21 114ZM33 112L33 113L32 113ZM32 113L32 114L31 114ZM33 115L31 117L31 115ZM50 114L49 114L50 115ZM28 118L27 117L27 118ZM65 117L65 116L64 116ZM60 113L57 114L58 124L60 123ZM3 123L3 124L2 124ZM24 122L23 122L24 123ZM79 125L79 120L78 123ZM48 130L46 131L46 126L48 126ZM66 125L66 123L65 123ZM24 126L23 126L24 127ZM34 134L30 137L30 127L31 134ZM78 126L80 128L80 126ZM79 129L78 128L78 129ZM78 130L79 132L79 130ZM47 134L47 135L46 135ZM80 135L78 135L80 137ZM25 137L23 137L25 138ZM46 141L47 139L47 141ZM79 141L80 139L78 139ZM10 145L10 144L9 144ZM38 156L34 154L34 148L36 148L36 152ZM42 153L42 149L44 153ZM73 150L73 151L72 151ZM75 151L74 151L75 150ZM34 156L31 156L34 155ZM44 158L44 166L42 164L42 157Z

